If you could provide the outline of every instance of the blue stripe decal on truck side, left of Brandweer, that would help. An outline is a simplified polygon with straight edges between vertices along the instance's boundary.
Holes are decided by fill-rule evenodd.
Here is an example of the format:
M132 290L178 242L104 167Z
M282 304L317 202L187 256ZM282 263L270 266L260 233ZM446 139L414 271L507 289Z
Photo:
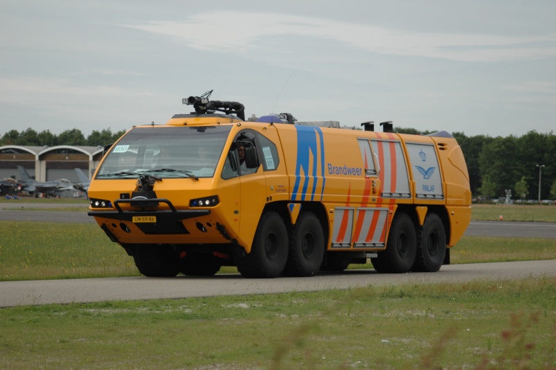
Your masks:
M322 131L320 127L309 126L295 126L295 129L297 129L297 161L295 164L295 185L293 186L292 200L296 200L299 192L302 176L301 170L303 170L305 177L301 200L305 200L310 177L313 179L311 200L314 200L318 180L318 159L320 159L320 177L322 177L322 188L320 189L320 200L322 200L322 193L325 191L325 142ZM320 139L320 147L317 145L317 135Z

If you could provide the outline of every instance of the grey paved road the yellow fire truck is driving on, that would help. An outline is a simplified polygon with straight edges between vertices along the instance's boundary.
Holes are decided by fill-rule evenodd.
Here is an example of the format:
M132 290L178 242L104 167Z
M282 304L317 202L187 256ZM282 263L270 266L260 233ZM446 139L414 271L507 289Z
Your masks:
M442 266L436 273L379 274L374 270L320 273L311 278L247 279L239 274L210 278L101 278L0 282L0 307L110 300L150 300L206 296L318 291L401 284L436 284L556 276L556 259Z

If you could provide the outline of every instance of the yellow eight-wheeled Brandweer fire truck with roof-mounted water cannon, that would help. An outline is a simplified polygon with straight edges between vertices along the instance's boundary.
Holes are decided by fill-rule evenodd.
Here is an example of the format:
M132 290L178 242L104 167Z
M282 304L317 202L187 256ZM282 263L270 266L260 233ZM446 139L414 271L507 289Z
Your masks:
M464 156L445 131L245 120L238 102L133 127L107 148L90 211L143 275L311 276L367 259L381 273L438 271L471 220Z

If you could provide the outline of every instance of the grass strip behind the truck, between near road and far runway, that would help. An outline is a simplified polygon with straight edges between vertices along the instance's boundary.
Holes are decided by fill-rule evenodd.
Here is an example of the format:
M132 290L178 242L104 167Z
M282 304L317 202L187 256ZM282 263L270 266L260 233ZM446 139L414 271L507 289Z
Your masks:
M0 281L139 275L133 259L96 224L3 221L0 234ZM450 257L452 264L556 259L556 241L464 236ZM221 272L237 270L223 267Z

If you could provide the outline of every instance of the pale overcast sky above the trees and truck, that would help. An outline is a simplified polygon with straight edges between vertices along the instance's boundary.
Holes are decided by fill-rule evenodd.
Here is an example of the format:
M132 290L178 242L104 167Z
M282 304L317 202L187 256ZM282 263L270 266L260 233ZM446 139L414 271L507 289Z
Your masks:
M556 131L556 1L0 0L0 135L246 116Z

